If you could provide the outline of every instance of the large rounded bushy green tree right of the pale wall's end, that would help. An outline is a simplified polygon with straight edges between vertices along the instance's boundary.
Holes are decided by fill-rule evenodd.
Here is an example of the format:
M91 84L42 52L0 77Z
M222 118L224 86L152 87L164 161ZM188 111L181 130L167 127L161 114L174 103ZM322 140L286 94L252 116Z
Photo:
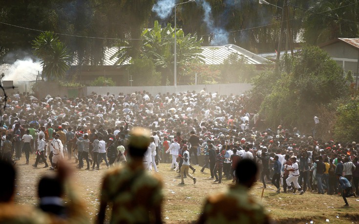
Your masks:
M307 131L320 105L348 95L342 68L318 47L305 47L286 57L279 73L270 71L253 81L251 97L260 103L267 124L297 126Z

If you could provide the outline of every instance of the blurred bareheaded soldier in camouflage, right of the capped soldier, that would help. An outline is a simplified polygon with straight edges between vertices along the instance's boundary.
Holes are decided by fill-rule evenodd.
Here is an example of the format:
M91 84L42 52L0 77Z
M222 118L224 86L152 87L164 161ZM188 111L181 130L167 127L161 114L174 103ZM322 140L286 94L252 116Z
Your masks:
M255 183L256 164L249 159L238 162L235 169L237 183L225 193L209 196L198 224L267 224L264 207L248 194Z

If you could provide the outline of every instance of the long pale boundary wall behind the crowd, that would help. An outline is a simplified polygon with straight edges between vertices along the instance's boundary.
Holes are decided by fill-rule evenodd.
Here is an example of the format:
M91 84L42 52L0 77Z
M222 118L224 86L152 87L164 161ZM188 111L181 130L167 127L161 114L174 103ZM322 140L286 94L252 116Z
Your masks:
M107 92L110 94L115 94L117 96L119 93L131 94L135 91L147 91L152 95L157 95L158 93L164 94L169 92L170 94L177 92L187 92L188 90L195 90L197 93L200 92L203 88L207 88L209 93L218 92L219 95L240 95L244 92L251 90L252 85L249 83L231 83L231 84L210 84L210 85L177 85L177 91L175 91L174 86L87 86L87 95L91 92L97 94L106 95Z

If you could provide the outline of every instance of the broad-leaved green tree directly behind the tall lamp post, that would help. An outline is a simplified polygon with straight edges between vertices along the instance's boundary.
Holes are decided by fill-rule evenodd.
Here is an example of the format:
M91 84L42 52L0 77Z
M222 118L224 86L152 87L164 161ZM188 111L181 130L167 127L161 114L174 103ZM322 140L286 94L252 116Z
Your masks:
M201 40L198 41L196 35L185 35L180 29L176 31L177 35L177 66L179 75L184 72L184 67L189 63L203 62L201 56ZM162 84L167 81L173 83L173 62L174 62L174 28L171 24L162 26L156 20L152 29L145 29L141 35L141 55L139 58L132 58L133 47L129 42L123 41L119 45L119 50L111 57L117 59L116 64L133 62L137 59L150 59L156 66L156 70L162 74Z

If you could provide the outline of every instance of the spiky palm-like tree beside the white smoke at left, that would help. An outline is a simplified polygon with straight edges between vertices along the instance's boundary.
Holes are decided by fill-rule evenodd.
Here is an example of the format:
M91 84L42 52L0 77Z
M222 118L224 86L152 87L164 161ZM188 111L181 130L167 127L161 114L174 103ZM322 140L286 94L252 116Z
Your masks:
M69 49L53 33L41 33L33 41L32 47L34 55L42 61L42 78L46 76L47 79L58 80L70 68L68 65L71 60Z

